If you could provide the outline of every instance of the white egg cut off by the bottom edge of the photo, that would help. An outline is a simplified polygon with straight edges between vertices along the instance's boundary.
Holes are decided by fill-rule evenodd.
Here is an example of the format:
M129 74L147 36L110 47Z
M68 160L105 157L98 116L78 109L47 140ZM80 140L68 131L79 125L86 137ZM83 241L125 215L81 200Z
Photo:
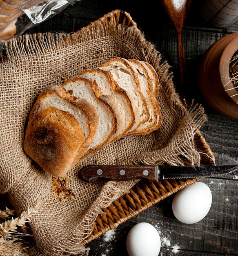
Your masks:
M127 235L129 256L158 256L160 245L158 231L146 222L136 224Z

